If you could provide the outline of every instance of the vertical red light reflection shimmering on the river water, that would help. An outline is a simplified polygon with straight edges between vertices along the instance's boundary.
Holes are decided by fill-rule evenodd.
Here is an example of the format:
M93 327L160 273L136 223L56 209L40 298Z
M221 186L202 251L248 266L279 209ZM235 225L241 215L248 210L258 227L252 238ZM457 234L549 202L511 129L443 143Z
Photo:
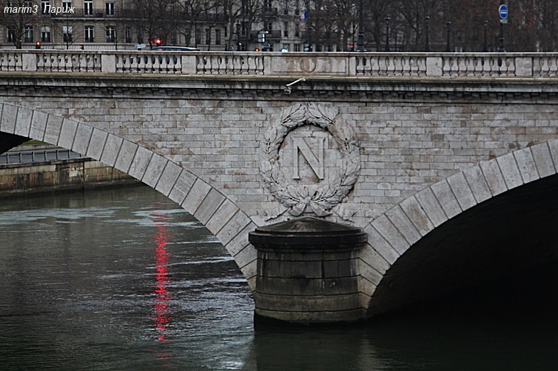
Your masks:
M156 267L156 284L155 291L155 304L153 311L153 321L159 333L159 341L167 341L166 328L171 321L171 292L168 292L167 285L171 282L171 277L168 277L168 253L166 251L166 244L168 240L168 231L166 230L166 215L165 214L151 214L154 218L157 232L154 236L155 248L155 267Z

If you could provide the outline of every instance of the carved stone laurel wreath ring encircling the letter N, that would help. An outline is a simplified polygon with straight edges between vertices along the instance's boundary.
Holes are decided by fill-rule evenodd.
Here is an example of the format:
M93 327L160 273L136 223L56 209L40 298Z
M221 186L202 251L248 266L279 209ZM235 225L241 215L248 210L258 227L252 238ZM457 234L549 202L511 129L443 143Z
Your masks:
M299 216L306 206L318 216L330 215L333 206L340 203L353 188L360 172L360 148L355 132L348 123L338 116L333 106L321 104L294 104L283 109L272 126L264 134L260 144L262 161L260 171L264 182L275 198L289 213ZM333 135L341 153L338 175L329 184L302 186L289 184L279 169L279 148L289 131L306 124L326 129Z

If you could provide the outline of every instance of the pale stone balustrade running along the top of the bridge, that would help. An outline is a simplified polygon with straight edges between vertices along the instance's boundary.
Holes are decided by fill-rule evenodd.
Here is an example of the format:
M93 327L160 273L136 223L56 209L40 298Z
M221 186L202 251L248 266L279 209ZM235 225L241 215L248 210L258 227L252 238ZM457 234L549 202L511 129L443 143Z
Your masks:
M0 50L0 72L557 77L558 53Z

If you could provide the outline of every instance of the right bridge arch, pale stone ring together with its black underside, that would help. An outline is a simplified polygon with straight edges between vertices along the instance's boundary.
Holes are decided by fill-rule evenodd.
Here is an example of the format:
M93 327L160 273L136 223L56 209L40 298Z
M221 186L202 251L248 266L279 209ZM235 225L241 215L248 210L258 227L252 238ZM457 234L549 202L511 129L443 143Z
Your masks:
M503 233L498 235L498 232L509 231L510 228L514 231L515 228L517 233L513 236L519 239L518 243L545 246L558 238L558 233L552 232L557 228L551 227L558 220L558 204L548 201L557 193L557 168L558 140L549 140L451 175L375 218L365 227L368 243L360 256L361 304L367 310L367 316L382 314L428 297L417 294L418 286L414 286L415 292L397 287L397 279L394 279L397 275L408 275L405 282L424 284L424 290L439 286L433 293L442 294L440 287L444 286L444 282L439 281L440 277L412 277L414 269L428 269L426 265L436 256L440 258L445 254L445 258L451 260L455 254L456 259L467 260L470 265L480 263L475 269L484 272L493 270L490 264L498 265L504 261L520 268L520 265L527 267L558 260L548 247L536 251L518 249L513 246L516 241L502 238ZM541 212L543 209L549 213ZM497 222L497 219L501 221ZM504 228L503 223L508 229L499 229ZM471 228L476 234L480 233L486 243L509 243L510 250L482 250L481 244L473 238ZM446 236L442 236L444 233ZM453 238L448 233L454 233ZM537 233L547 237L539 238ZM470 245L467 246L467 243ZM444 250L444 246L451 246L451 249ZM508 255L513 255L515 261L511 261ZM420 264L425 267L419 267ZM437 272L454 275L454 272L448 272L451 269L449 266L439 267ZM507 268L496 267L488 275L498 278L498 274L505 273L502 269ZM467 274L463 270L460 273ZM467 284L480 283L480 276L471 277L478 282ZM424 279L421 281L421 278ZM455 283L448 282L445 286L449 289L449 285ZM459 283L466 288L464 282Z

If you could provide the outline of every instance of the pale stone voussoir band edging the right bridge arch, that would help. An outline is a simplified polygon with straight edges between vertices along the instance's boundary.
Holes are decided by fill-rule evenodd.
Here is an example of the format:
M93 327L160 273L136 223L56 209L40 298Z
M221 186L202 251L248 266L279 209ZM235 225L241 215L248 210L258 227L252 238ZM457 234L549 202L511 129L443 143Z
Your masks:
M360 255L361 304L395 261L445 221L498 194L557 174L558 140L532 145L481 162L423 189L370 222Z

